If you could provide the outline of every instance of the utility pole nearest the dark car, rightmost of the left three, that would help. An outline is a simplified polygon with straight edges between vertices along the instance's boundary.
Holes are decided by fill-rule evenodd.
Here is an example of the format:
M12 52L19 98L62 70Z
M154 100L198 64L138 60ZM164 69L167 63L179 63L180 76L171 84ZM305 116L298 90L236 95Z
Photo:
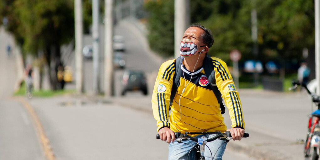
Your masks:
M113 0L105 0L105 47L104 47L104 93L106 97L113 95Z

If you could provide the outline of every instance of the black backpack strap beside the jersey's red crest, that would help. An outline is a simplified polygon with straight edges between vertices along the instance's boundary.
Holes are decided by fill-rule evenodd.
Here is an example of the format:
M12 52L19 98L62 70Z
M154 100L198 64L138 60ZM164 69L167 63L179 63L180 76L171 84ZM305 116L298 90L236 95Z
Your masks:
M221 92L219 91L216 84L215 71L213 69L212 59L209 55L206 55L204 57L203 66L204 66L203 68L204 68L205 76L208 78L209 85L220 105L221 114L224 114L226 108L224 107L224 104L223 104Z

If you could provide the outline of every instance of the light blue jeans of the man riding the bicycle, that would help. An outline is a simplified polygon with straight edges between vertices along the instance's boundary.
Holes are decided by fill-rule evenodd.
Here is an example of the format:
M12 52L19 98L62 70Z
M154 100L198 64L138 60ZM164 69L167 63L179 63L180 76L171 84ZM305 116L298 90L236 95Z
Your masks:
M215 136L216 134L202 134L202 135L198 135L195 138L200 138L202 136L205 136L206 138L212 138L213 136ZM191 148L196 145L196 142L192 141L192 140L187 140L187 141L183 141L184 143L187 144L183 144L183 143L178 143L177 141L174 141L173 143L169 144L169 160L187 160L188 158L188 153L191 150ZM212 156L214 156L213 159L215 160L221 160L222 159L222 155L224 153L224 150L226 149L226 145L227 143L224 143L225 140L214 140L211 142L208 142L206 145L208 147L205 147L204 149L204 156L206 160L211 160ZM192 146L190 146L192 145ZM220 147L220 148L219 148ZM212 155L211 155L212 153ZM188 160L194 160L196 159L196 149L193 149L190 152L189 155L189 159Z

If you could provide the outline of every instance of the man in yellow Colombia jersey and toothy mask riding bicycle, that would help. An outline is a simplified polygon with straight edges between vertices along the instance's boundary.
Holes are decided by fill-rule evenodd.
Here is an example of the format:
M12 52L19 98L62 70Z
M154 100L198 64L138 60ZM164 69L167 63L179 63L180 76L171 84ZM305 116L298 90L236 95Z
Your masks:
M187 159L193 141L188 144L178 143L174 132L225 132L220 107L223 107L213 87L219 89L220 95L229 110L232 128L228 129L233 140L241 140L244 135L244 120L239 93L236 91L231 74L225 62L207 56L213 44L211 31L199 24L191 25L184 33L180 43L181 61L179 58L164 62L158 72L152 94L152 109L157 121L160 139L169 143L169 160ZM205 59L209 59L205 60ZM215 84L209 81L205 66L213 66L211 74ZM178 75L180 84L175 85ZM210 84L210 85L209 85ZM175 87L176 86L176 87ZM212 87L213 86L213 87ZM176 92L172 92L175 91ZM174 94L172 96L172 94ZM172 96L172 98L171 98ZM218 97L218 98L217 98ZM171 113L169 115L169 110ZM211 138L213 134L193 135L198 138ZM226 143L223 140L208 142L207 146L215 159L222 159ZM211 159L207 149L206 159ZM193 153L194 155L195 153Z

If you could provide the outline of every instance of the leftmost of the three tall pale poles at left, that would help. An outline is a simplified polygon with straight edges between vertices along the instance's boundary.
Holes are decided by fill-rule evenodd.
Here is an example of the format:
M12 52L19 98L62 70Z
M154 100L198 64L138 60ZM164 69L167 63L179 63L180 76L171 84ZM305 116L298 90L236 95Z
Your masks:
M83 17L82 0L75 0L76 91L83 92Z

